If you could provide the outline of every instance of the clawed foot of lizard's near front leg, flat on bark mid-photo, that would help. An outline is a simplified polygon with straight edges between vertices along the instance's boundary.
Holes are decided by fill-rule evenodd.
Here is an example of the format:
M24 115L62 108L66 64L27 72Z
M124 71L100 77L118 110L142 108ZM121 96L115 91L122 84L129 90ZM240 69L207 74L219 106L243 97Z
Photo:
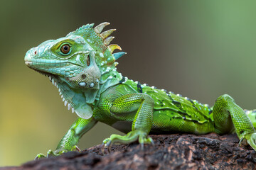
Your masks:
M139 143L144 148L144 144L151 144L154 145L154 141L151 137L148 137L146 132L142 130L132 130L131 132L127 133L127 135L111 135L109 138L103 140L102 143L102 153L104 154L104 148L107 147L108 152L110 152L111 146L113 144L129 144L136 140L139 140Z

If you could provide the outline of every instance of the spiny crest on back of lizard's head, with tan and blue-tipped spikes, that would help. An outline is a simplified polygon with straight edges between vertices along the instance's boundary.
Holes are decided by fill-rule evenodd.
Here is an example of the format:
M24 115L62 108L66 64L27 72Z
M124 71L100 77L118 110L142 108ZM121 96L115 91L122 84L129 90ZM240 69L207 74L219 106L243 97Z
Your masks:
M100 23L98 26L93 28L94 23L81 26L77 30L69 33L69 35L80 35L85 41L91 45L92 48L97 51L96 62L100 67L115 67L118 63L115 62L119 57L125 55L126 52L116 52L114 50L122 50L119 45L111 44L110 42L114 39L113 36L109 36L116 29L110 29L102 32L105 26L110 25L110 23Z

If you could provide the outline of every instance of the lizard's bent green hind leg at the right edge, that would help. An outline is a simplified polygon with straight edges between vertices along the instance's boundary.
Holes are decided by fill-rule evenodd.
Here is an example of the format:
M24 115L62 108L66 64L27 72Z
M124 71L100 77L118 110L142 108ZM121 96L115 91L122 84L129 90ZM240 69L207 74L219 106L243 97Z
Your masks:
M235 132L240 139L256 150L256 131L245 111L227 94L220 96L213 106L215 132L219 134Z

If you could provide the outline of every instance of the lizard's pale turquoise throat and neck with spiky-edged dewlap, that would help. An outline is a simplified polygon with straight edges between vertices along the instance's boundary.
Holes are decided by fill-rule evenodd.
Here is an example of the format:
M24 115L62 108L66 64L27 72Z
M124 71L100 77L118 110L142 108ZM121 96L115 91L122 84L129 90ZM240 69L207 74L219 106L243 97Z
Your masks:
M61 98L68 110L75 112L80 118L88 119L92 117L93 106L100 100L102 92L111 86L119 84L122 74L117 69L106 68L102 72L99 89L74 89L59 77L51 76L50 81L58 88Z

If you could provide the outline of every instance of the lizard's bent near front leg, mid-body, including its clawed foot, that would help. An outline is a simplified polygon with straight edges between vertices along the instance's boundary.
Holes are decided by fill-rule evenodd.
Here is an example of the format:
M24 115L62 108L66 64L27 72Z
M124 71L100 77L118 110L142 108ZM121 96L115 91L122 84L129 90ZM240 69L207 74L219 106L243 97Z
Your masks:
M107 146L108 149L110 149L111 145L114 143L129 144L136 140L139 140L142 146L144 144L153 143L151 137L148 137L153 123L153 98L147 94L127 94L112 102L103 102L105 102L104 105L107 106L106 108L108 108L110 114L117 117L122 117L127 113L136 111L134 120L132 121L132 131L124 136L111 135L103 141L103 146Z

